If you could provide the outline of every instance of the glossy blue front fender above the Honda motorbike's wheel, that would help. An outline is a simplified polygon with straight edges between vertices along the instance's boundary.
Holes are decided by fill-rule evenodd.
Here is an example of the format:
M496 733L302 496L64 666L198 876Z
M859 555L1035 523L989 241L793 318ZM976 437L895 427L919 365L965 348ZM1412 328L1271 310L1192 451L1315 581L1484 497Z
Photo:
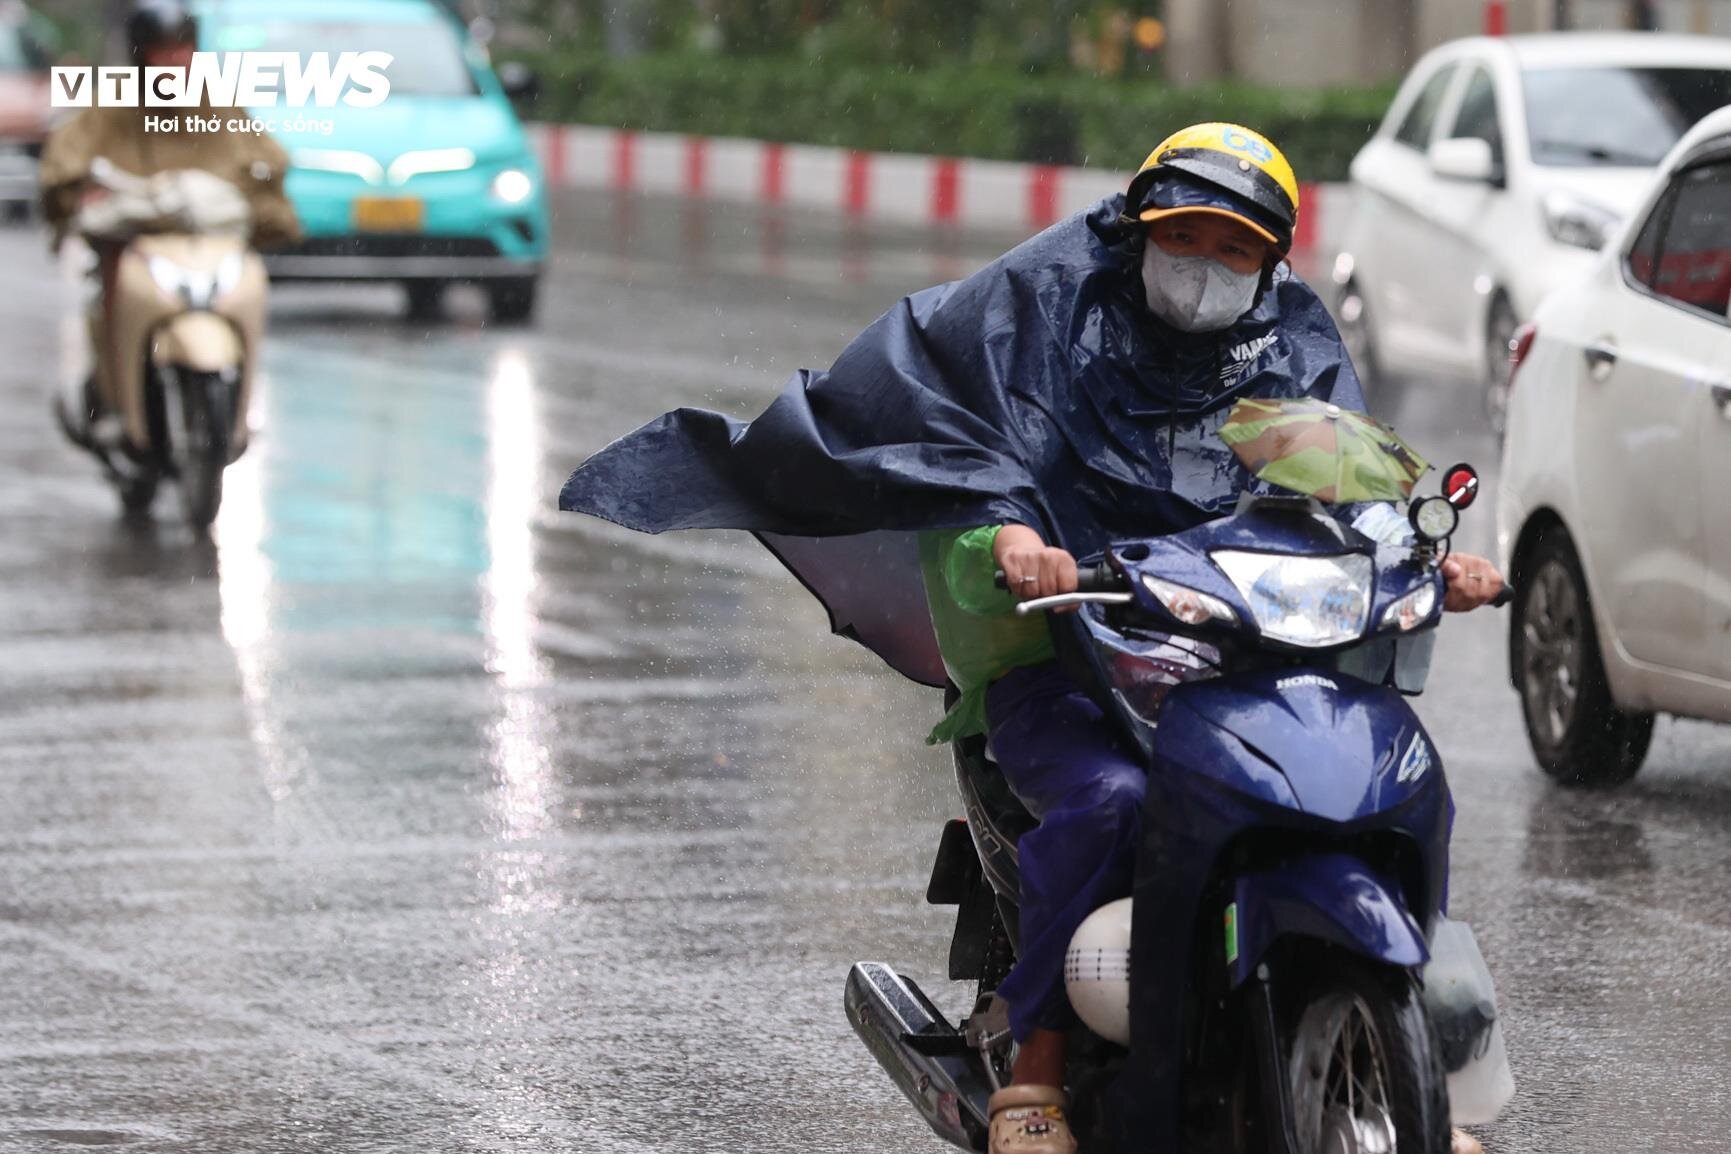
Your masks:
M1227 965L1243 984L1277 938L1328 941L1376 962L1423 965L1425 931L1400 891L1359 858L1319 853L1238 879L1227 910Z

